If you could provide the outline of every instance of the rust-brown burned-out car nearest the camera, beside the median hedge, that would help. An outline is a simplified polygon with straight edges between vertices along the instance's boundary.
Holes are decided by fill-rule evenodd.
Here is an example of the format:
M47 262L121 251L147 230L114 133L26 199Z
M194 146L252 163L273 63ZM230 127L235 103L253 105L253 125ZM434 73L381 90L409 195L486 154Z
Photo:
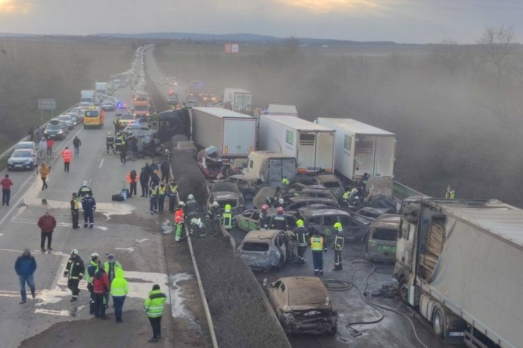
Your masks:
M267 299L288 334L336 333L338 310L318 277L280 278L267 285Z

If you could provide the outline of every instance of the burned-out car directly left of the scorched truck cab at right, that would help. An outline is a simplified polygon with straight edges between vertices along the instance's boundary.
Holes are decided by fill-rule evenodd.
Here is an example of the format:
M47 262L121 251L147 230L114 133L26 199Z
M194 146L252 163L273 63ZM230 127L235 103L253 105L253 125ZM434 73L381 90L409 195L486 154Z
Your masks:
M370 224L365 239L365 258L372 261L396 262L396 240L400 216L384 214Z

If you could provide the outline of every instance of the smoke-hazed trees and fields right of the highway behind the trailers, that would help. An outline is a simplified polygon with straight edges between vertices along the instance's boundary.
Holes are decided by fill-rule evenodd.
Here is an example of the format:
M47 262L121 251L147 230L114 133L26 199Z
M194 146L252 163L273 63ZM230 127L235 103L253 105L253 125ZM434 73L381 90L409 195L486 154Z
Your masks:
M300 117L355 118L397 134L396 178L442 197L498 198L519 193L523 56L510 27L485 28L474 45L357 47L343 51L288 45L225 55L221 47L164 47L164 71L203 79L221 93L241 87L296 104Z

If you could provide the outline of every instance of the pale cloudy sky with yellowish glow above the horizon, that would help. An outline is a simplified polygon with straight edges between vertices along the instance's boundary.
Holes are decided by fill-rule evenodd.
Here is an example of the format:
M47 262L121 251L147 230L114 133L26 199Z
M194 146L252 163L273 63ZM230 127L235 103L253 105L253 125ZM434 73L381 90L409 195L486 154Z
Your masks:
M299 38L474 43L514 26L522 0L0 0L0 33L254 33Z

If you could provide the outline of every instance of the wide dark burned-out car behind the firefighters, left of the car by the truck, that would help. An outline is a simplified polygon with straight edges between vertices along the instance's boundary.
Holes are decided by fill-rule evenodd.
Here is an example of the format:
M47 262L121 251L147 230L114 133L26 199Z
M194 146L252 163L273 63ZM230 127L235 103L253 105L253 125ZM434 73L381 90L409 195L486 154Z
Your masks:
M363 241L367 235L370 223L373 219L359 214L350 214L339 209L309 209L299 210L299 216L302 217L307 228L315 227L327 240L334 237L334 223L341 223L345 240Z

